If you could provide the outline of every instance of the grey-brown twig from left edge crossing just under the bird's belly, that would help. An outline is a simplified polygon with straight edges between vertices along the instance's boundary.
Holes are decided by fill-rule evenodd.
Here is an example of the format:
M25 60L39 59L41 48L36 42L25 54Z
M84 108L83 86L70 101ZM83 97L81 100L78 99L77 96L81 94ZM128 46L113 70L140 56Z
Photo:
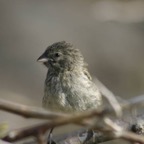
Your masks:
M29 107L21 104L16 104L1 99L0 99L0 109L17 115L21 115L25 118L37 118L37 119L48 119L48 120L54 120L56 118L64 118L66 121L70 121L70 122L72 122L73 119L79 121L79 119L99 116L106 113L112 114L113 112L111 109L106 109L106 110L97 109L97 110L89 110L89 111L70 115L64 113L51 112L38 107Z

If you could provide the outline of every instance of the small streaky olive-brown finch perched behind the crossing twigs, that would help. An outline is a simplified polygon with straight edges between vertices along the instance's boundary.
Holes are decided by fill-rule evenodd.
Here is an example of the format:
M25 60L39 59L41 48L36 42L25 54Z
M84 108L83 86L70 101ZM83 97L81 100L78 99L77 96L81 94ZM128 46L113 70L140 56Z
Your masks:
M48 68L44 108L73 113L100 107L101 93L92 82L79 49L65 41L56 42L47 47L38 61Z

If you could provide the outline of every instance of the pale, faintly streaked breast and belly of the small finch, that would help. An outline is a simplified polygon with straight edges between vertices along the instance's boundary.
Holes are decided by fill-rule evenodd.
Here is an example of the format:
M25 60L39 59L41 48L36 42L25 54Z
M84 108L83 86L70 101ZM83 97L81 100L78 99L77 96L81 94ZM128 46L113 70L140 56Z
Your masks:
M83 75L47 76L43 107L53 111L80 112L95 108L101 101L96 87Z

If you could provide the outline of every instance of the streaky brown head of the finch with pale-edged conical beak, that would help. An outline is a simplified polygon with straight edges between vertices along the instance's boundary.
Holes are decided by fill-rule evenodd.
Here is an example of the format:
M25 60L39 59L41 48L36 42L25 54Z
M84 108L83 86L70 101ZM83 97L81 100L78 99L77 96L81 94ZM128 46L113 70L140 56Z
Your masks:
M84 65L80 51L65 41L48 46L37 61L53 70L71 70Z

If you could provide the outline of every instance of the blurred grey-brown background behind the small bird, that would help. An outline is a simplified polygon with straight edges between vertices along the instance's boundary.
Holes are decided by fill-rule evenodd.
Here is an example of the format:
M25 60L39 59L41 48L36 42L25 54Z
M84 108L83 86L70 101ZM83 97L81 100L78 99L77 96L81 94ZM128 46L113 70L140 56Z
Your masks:
M47 70L36 59L62 40L116 95L144 93L143 0L0 0L0 98L41 107ZM40 122L5 112L1 121L10 129Z

